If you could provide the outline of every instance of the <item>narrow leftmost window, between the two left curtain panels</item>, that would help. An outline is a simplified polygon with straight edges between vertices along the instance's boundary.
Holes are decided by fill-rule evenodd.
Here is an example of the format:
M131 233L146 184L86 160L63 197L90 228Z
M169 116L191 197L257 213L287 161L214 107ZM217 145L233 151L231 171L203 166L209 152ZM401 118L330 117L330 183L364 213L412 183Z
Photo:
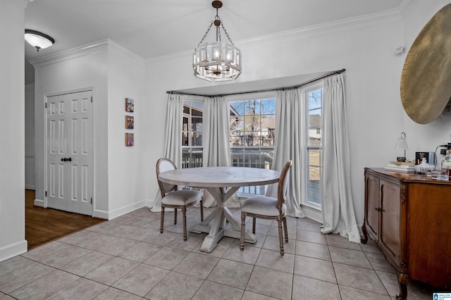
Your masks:
M204 103L183 101L182 168L202 167Z

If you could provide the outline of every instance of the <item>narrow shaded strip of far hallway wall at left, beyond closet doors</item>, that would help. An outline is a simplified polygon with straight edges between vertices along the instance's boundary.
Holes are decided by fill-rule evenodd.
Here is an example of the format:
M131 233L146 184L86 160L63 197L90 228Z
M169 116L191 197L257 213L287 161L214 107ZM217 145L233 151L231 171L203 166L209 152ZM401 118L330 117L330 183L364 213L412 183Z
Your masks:
M25 189L35 189L35 84L25 85Z

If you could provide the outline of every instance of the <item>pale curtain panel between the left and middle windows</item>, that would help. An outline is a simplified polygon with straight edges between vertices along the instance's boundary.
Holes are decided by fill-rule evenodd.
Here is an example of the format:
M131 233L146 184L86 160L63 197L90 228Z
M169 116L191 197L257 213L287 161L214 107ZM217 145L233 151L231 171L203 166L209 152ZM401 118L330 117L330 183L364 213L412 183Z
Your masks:
M204 167L227 167L232 165L229 138L229 104L224 96L205 97L204 99ZM216 200L208 191L204 191L204 206L216 206ZM233 194L227 201L228 207L240 207L240 201Z

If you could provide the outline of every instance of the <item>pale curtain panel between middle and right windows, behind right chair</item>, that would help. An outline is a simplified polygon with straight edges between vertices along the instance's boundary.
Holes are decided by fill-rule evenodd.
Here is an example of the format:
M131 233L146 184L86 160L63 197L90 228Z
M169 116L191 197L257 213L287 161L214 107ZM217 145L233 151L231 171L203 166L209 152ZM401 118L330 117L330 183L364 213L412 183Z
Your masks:
M299 89L280 90L276 99L276 141L274 142L273 170L282 170L288 160L293 164L285 187L287 215L304 218L301 208L302 145L304 144L304 113ZM269 185L266 196L277 197L277 184Z

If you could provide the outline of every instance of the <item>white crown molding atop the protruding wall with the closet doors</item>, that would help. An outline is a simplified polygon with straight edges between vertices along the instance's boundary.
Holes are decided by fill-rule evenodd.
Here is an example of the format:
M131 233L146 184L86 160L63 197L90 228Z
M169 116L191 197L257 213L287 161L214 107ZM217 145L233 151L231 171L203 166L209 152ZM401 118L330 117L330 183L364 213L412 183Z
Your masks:
M80 56L86 56L88 54L92 54L95 51L99 51L101 49L108 49L109 46L114 46L115 48L119 49L120 51L123 51L125 54L132 56L132 58L135 58L137 61L144 63L144 58L142 58L141 56L138 56L137 54L133 53L129 49L125 48L124 46L121 46L120 44L113 42L111 39L102 39L98 42L86 44L86 45L79 46L79 47L69 49L66 51L61 51L56 54L50 54L50 55L44 56L42 58L33 59L32 61L30 61L30 63L35 68L39 68L39 67L42 67L43 65L49 65L51 63L58 63L61 61L67 61L69 59L77 58Z

